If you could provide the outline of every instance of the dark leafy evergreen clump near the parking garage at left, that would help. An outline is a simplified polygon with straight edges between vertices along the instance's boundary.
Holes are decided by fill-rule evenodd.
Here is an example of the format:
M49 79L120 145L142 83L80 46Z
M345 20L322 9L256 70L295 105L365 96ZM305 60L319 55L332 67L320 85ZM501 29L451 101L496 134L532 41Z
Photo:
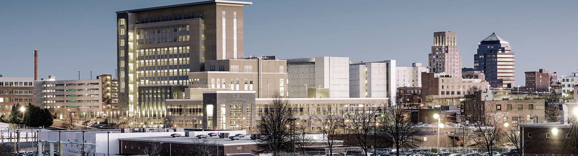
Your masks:
M46 108L28 103L25 106L24 124L29 127L49 127L53 124L53 115Z

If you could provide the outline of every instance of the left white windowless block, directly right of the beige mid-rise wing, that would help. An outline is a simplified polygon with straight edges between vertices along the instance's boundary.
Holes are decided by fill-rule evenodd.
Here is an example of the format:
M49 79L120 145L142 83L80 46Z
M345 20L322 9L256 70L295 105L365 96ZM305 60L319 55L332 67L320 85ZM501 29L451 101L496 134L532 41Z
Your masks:
M288 97L305 98L311 88L328 88L329 97L349 97L349 58L287 60Z

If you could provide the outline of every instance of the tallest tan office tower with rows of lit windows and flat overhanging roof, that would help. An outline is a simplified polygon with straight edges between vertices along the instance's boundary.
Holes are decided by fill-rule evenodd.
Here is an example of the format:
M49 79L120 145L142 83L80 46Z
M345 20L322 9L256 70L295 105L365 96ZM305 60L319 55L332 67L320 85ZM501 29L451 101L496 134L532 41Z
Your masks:
M242 59L243 6L250 4L214 0L116 12L118 109L165 116L158 113L165 99L183 97L179 87L189 85L190 72L202 72L208 60Z

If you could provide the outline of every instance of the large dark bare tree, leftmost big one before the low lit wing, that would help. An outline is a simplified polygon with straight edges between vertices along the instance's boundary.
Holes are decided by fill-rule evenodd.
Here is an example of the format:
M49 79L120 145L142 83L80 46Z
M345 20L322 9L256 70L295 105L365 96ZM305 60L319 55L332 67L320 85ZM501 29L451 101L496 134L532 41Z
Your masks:
M273 100L265 106L261 121L257 124L257 153L273 153L293 151L293 132L291 119L294 119L289 101L281 99L279 93L273 95Z

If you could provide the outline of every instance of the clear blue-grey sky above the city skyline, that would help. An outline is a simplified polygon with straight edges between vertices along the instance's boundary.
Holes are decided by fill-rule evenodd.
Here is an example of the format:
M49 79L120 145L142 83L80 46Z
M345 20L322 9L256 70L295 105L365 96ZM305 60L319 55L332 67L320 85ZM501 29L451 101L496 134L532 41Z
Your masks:
M116 69L114 12L195 1L5 1L0 74L88 79ZM343 56L427 64L433 32L458 33L462 66L492 32L516 53L516 83L540 68L578 69L578 1L252 1L244 10L244 54L281 59Z

